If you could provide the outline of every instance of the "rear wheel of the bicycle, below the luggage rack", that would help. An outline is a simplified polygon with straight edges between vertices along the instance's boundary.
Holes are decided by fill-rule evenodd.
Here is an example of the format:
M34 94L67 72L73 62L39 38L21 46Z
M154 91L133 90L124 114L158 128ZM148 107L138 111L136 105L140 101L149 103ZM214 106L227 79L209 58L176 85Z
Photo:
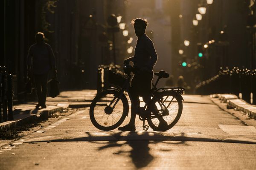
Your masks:
M147 117L148 125L156 131L169 130L180 119L182 108L180 94L174 91L163 91L154 97L148 105L147 111L151 112Z

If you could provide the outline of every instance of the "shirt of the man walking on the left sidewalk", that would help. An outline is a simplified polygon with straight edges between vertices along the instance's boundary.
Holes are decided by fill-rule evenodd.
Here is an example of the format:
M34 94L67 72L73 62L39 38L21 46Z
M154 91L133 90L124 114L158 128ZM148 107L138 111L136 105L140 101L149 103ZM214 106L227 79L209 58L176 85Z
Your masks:
M55 57L49 44L33 44L29 48L27 66L34 74L45 74L52 67L55 67Z

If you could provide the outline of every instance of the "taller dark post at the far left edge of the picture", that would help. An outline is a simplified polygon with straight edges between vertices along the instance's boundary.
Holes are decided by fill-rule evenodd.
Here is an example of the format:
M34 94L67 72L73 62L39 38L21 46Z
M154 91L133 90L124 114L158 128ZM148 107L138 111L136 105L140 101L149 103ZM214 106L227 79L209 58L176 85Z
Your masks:
M7 97L6 97L6 68L2 68L2 110L3 110L3 122L7 121Z

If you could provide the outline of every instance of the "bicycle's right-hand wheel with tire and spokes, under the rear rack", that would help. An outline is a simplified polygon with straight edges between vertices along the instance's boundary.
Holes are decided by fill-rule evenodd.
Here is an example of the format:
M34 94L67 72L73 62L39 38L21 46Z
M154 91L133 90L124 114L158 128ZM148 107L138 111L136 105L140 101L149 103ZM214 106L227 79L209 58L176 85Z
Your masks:
M161 106L158 104L156 97L158 99L162 99L162 101L166 100L166 102L164 102L165 105L167 104L166 106L168 106L168 104L169 104L168 102L170 102L170 99L172 101L172 103L170 103L170 105L168 107L169 115L163 116L164 121L166 121L166 123L167 123L167 126L164 126L164 127L159 126L159 123L160 123L159 118L151 117L152 115L157 116L157 114L163 113L163 112L159 111ZM148 125L155 131L169 130L174 125L176 125L176 123L180 119L182 109L183 109L182 97L180 96L180 94L177 94L177 92L175 92L175 91L163 91L163 92L160 92L156 97L151 99L151 101L149 102L149 105L148 105L149 107L147 107L148 111L152 111L150 106L153 106L153 107L156 106L157 110L158 110L158 111L151 112L151 114L147 116ZM154 108L154 110L155 110L155 108Z

